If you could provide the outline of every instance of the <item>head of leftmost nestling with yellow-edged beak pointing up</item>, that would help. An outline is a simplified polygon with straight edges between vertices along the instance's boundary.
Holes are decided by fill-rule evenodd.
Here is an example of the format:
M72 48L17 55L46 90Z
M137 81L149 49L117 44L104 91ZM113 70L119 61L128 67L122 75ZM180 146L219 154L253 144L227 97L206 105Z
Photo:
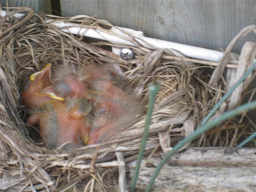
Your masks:
M43 88L51 84L51 64L48 63L40 71L35 72L22 82L22 102L28 108L36 108L52 99L39 94Z

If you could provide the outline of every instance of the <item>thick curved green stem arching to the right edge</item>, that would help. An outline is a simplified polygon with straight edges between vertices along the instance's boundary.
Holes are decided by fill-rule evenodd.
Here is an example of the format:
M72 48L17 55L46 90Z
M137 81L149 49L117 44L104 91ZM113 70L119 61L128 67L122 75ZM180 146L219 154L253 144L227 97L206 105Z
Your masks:
M164 164L168 161L168 159L170 159L170 157L174 153L176 153L180 148L182 148L182 146L184 146L187 142L189 142L191 140L194 140L195 138L198 138L202 133L214 128L217 124L220 124L220 123L232 118L233 116L236 116L238 114L242 114L243 112L246 112L248 110L253 110L255 108L256 108L256 101L253 101L253 102L244 104L242 106L239 106L239 107L237 107L233 110L230 110L230 111L224 113L223 115L221 115L218 118L212 120L211 122L208 122L207 124L201 126L200 128L197 128L188 137L186 137L183 140L181 140L180 142L178 142L178 144L176 144L174 146L174 148L172 148L172 150L168 154L166 154L166 156L164 156L164 158L162 159L160 164L158 164L154 174L152 175L152 177L150 179L150 182L148 184L148 188L146 189L146 192L150 192L156 177L158 176L160 170L162 169Z

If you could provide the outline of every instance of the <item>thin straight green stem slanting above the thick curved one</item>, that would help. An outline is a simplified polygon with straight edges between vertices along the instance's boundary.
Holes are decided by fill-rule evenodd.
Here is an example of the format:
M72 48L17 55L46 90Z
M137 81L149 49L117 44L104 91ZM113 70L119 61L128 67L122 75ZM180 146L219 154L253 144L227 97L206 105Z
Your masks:
M245 80L245 78L256 68L256 62L244 73L244 75L234 84L234 86L226 92L226 94L219 100L219 102L212 108L212 110L206 115L206 117L202 120L201 125L205 124L212 115L218 110L220 105L226 101L226 99L232 94L232 92Z

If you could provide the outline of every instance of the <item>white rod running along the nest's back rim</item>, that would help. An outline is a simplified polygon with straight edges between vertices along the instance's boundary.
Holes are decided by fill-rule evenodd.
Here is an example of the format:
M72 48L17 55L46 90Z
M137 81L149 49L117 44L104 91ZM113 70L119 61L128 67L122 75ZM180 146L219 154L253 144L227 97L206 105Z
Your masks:
M1 15L5 16L6 11L2 10ZM21 17L22 15L24 15L24 14L15 14L14 16ZM46 23L51 22L51 21L52 21L52 19L47 19L47 18L45 20ZM76 26L76 24L73 24L70 22L62 22L62 21L53 22L52 24L54 24L55 26L58 26L60 28L68 26L69 27L68 29L62 29L63 32L71 32L72 34L79 34L79 35L97 38L97 39L101 39L101 40L108 40L110 42L135 46L129 40L124 40L122 38L118 38L114 35L110 35L108 33L101 32L100 30L97 30L94 28L79 27L79 26ZM120 30L118 30L118 29L120 29ZM147 48L152 48L152 47L148 46L143 41L154 45L156 48L175 49L175 50L182 52L184 55L186 55L188 57L206 60L206 61L219 62L223 56L223 53L220 51L209 50L209 49L205 49L205 48L199 48L199 47L194 47L194 46L189 46L189 45L184 45L184 44L179 44L179 43L174 43L174 42L168 42L168 41L154 39L154 38L148 38L148 37L145 37L143 35L143 32L141 32L141 31L136 31L136 30L132 30L132 29L128 29L128 28L121 28L121 27L111 28L111 30L112 30L112 32L114 32L116 34L123 36L126 39L129 39L130 37L121 31L121 30L123 30L123 31L129 33L130 35L132 35L136 40L138 40L138 42L140 42L142 45L144 45Z

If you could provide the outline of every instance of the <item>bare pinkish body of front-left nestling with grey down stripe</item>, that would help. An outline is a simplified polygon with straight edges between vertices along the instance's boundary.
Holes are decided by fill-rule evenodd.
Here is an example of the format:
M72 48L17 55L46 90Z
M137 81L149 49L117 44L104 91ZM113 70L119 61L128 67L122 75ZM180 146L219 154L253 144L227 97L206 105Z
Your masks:
M70 103L48 103L41 114L40 132L49 148L56 148L66 142L81 146L88 142L90 128L86 118L72 118L68 113Z

